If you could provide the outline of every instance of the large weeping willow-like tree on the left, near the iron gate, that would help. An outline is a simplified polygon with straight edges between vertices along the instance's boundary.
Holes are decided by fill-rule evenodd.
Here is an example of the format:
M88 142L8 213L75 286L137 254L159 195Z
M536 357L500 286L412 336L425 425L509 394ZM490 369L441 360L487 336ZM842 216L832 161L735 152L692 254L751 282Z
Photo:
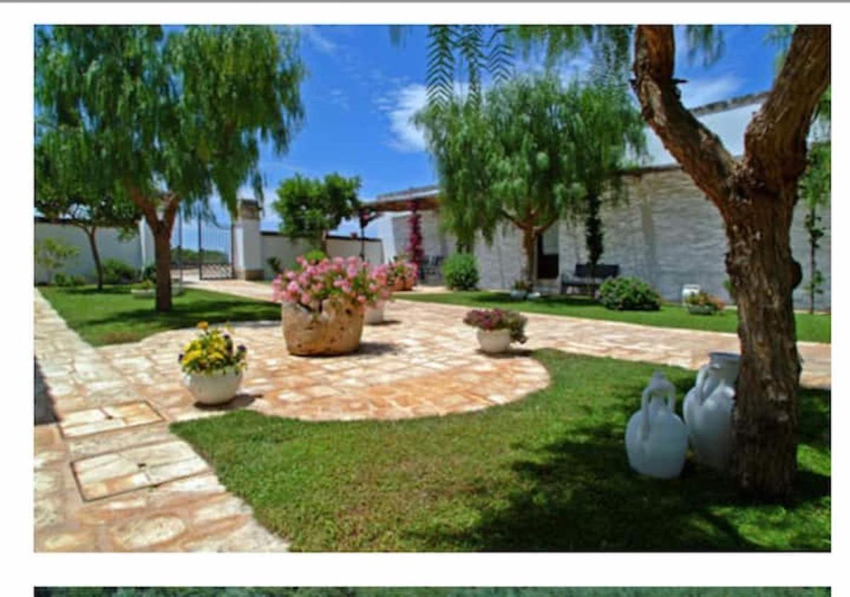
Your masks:
M260 145L286 151L302 117L296 37L267 26L54 26L37 30L42 138L132 201L154 236L156 310L171 309L170 244L182 204L262 199Z

